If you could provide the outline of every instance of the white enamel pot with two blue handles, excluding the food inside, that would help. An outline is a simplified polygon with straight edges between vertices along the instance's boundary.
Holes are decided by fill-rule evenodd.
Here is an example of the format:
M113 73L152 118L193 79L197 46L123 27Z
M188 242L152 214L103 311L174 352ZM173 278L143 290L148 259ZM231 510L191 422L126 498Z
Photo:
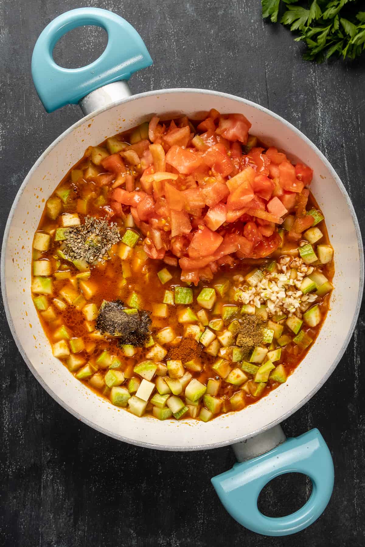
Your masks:
M97 25L108 32L102 56L88 67L64 69L52 57L57 40L74 27ZM298 532L325 509L333 487L332 458L317 430L285 439L282 420L305 404L328 379L349 344L360 309L363 249L349 196L321 152L303 133L270 110L244 98L199 89L167 89L131 96L126 80L152 63L137 32L109 11L69 11L48 25L34 48L32 74L47 110L80 103L85 117L57 138L36 161L16 195L5 228L1 281L5 312L26 364L46 391L78 420L121 441L159 450L205 450L233 445L239 464L212 479L229 513L258 533ZM325 214L335 252L334 293L325 324L307 356L285 384L258 403L215 420L159 421L138 418L98 397L52 355L31 297L32 235L44 201L89 145L130 129L157 113L168 119L194 117L216 108L239 112L252 132L269 146L285 150L314 170L312 192ZM24 289L24 290L23 290ZM250 459L251 458L251 459ZM296 471L309 475L312 494L302 509L280 519L259 513L257 497L275 476Z

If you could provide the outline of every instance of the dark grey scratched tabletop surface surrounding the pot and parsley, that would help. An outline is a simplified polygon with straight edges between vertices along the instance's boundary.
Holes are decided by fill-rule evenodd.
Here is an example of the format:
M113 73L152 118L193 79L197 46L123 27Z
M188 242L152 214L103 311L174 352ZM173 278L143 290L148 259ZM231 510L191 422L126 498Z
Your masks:
M327 156L365 228L364 56L352 63L302 61L302 46L291 34L262 21L258 0L0 0L1 232L34 161L80 118L78 107L44 112L30 75L34 43L56 15L88 5L123 16L146 42L154 65L131 78L133 91L214 89L274 110ZM105 43L103 31L76 30L56 46L55 57L64 66L82 66ZM141 449L67 414L28 371L3 313L1 321L1 546L364 545L364 310L337 370L283 424L288 436L318 427L335 467L325 513L295 538L257 536L225 513L210 478L234 463L229 447ZM302 476L286 475L266 488L260 507L284 515L309 491Z

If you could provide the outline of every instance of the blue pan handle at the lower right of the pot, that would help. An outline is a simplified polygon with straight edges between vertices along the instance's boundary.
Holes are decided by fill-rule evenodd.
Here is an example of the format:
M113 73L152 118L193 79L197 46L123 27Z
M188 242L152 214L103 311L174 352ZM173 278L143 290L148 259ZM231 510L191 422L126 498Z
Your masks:
M312 481L311 496L301 509L279 518L260 513L257 499L271 479L285 473L303 473ZM225 509L245 528L265 536L289 536L311 525L331 498L334 470L331 453L318 429L311 429L262 456L235 463L212 478Z

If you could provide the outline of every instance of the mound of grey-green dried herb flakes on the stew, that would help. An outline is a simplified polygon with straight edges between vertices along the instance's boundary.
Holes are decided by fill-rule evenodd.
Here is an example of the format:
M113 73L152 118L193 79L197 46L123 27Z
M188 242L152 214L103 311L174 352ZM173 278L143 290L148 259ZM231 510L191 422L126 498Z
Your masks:
M65 230L63 253L69 260L86 260L88 264L105 262L109 249L120 240L117 224L101 218L85 217L85 223Z

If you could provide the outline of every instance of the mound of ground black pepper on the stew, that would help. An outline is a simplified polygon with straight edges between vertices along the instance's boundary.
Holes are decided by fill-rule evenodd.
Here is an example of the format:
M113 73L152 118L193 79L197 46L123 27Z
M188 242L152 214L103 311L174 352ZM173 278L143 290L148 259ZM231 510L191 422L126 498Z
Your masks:
M149 312L126 308L121 300L104 301L96 319L96 328L102 334L119 339L119 344L143 346L150 335L152 323Z

